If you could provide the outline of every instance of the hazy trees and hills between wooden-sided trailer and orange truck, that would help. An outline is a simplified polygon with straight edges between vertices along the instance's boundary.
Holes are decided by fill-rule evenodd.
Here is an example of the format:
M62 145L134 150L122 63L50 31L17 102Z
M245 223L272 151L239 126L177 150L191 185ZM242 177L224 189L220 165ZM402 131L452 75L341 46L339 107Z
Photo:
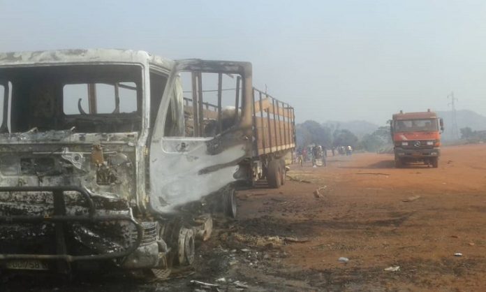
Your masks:
M295 126L297 133L297 147L310 144L323 145L327 149L339 146L351 146L369 152L377 152L392 145L390 127L381 126L371 134L361 139L348 129L340 129L339 124L323 125L308 120Z

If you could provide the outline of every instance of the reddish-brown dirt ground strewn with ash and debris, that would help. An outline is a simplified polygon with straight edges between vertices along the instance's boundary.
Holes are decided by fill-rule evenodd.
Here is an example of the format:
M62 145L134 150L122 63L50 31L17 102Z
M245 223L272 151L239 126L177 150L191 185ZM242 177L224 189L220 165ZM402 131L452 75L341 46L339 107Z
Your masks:
M486 291L486 145L445 147L439 168L392 160L334 156L326 168L292 168L281 189L240 191L238 219L215 221L180 278L47 290L193 291L197 279L220 291Z

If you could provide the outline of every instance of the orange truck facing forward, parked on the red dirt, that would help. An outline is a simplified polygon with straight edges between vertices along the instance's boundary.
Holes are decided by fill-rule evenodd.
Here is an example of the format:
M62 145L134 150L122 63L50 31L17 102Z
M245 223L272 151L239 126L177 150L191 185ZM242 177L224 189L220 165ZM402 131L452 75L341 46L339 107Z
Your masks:
M441 133L443 119L435 112L403 112L393 115L390 132L394 144L395 167L406 163L423 161L434 168L439 167L441 155Z

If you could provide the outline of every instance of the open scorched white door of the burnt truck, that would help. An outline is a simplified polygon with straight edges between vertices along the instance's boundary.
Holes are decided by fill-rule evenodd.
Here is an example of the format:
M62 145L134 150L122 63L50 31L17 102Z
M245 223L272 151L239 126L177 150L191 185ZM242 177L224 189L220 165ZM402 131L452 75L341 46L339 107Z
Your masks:
M157 212L174 212L175 208L184 203L200 200L203 196L235 182L238 164L251 153L251 106L248 106L251 105L251 64L197 59L177 61L176 69L172 71L168 81L169 87L162 98L157 119L168 116L171 101L173 102L175 98L180 101L182 96L176 95L176 89L182 87L179 73L184 71L192 73L193 84L196 85L202 83L201 73L240 75L242 78L241 112L237 117L233 117L236 121L233 126L224 129L220 124L221 132L214 137L204 137L202 128L208 118L205 116L207 112L202 108L204 101L202 101L202 87L199 85L199 89L192 89L191 92L193 94L191 109L195 113L192 116L192 126L193 129L200 129L194 131L193 137L171 136L170 133L166 133L167 129L163 123L157 120L150 145L149 162L150 205ZM221 77L219 80L219 106L215 112L222 117ZM186 123L187 120L184 119L183 122ZM222 123L223 120L219 119L219 122Z

